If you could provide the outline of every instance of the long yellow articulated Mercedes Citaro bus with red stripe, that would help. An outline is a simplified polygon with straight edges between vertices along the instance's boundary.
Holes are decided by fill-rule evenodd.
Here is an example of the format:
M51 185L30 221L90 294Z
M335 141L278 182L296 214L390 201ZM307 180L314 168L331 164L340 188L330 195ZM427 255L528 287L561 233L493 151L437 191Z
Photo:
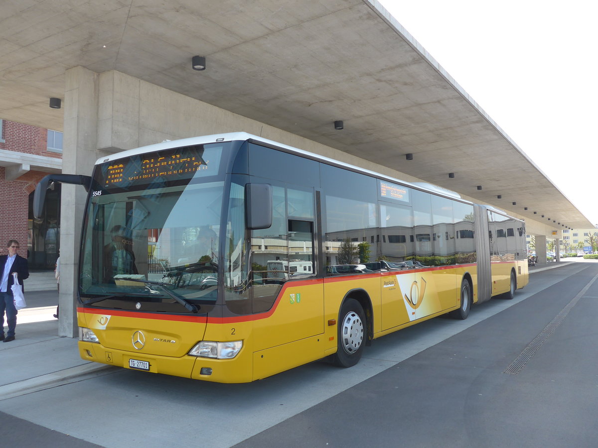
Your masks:
M99 159L78 278L84 360L249 382L528 281L521 220L245 133Z

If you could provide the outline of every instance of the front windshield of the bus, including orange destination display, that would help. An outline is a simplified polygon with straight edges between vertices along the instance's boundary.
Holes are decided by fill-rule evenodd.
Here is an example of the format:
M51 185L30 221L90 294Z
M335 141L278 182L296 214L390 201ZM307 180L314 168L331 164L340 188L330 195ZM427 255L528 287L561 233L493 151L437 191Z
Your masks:
M194 304L216 302L224 145L96 166L81 251L84 304L196 312Z

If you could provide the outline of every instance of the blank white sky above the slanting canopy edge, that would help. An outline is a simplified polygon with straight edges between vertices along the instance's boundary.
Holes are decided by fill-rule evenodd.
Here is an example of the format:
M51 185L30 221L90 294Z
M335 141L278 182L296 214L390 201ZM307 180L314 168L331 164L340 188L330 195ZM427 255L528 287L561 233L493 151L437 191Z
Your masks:
M379 1L598 224L598 2Z

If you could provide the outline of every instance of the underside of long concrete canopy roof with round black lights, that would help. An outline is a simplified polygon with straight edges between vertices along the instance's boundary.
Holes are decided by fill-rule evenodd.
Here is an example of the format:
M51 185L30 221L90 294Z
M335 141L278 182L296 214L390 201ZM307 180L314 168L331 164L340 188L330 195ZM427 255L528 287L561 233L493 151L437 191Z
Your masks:
M554 229L592 226L375 0L8 0L2 17L0 118L62 130L48 98L65 70L118 70Z

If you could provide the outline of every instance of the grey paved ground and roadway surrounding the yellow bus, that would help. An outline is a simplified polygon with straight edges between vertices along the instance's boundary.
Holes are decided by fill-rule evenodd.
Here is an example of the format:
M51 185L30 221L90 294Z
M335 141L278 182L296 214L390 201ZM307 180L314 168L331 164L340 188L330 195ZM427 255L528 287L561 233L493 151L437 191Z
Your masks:
M0 343L4 446L595 447L598 263L533 269L514 300L382 337L351 369L318 362L218 385L78 357L57 294L28 293ZM530 348L528 348L528 346ZM505 373L506 372L506 373Z

